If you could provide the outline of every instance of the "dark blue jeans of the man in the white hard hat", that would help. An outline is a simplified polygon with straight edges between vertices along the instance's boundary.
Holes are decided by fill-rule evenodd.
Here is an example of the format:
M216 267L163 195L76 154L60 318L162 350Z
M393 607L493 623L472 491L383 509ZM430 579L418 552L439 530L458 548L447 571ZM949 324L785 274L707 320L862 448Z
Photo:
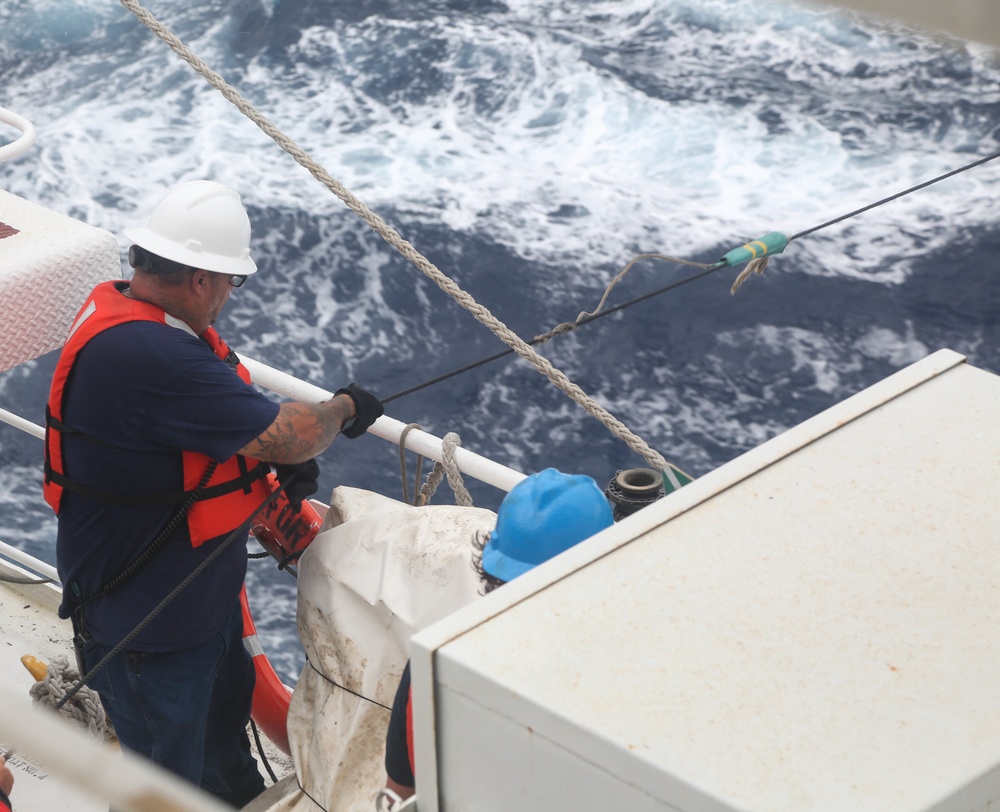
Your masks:
M91 641L83 652L88 671L110 650ZM236 602L208 642L120 652L91 687L124 746L241 807L264 791L246 732L254 680Z

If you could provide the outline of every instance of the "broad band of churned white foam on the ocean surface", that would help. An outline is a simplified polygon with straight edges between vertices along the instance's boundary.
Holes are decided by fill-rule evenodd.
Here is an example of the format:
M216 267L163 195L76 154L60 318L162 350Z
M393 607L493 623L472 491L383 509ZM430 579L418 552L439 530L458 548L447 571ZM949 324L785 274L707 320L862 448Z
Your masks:
M64 5L42 4L39 15L62 19ZM30 13L16 8L15 20ZM109 22L100 5L81 8L71 39ZM928 139L926 127L893 122L914 83L915 120L928 123L952 115L958 99L1000 98L1000 74L981 55L962 57L968 75L940 76L935 65L953 54L928 38L795 6L511 8L333 22L303 31L283 70L259 57L238 78L376 210L485 232L528 260L572 260L602 275L639 251L714 259L707 252L720 246L811 227L965 162L993 125L954 113ZM225 62L214 33L192 45ZM339 208L162 43L140 42L131 66L114 64L107 84L88 82L83 98L76 75L100 71L95 57L6 89L4 102L41 133L39 161L5 170L12 188L116 232L169 185L200 176L240 188L252 204ZM663 93L623 77L639 48L647 83ZM426 84L402 84L418 68L431 74ZM777 71L798 83L785 98L768 92ZM674 77L700 91L670 97ZM393 81L401 86L379 89ZM63 91L55 100L53 84ZM899 282L907 263L886 266L887 255L945 244L959 216L963 226L991 222L998 184L989 170L947 181L794 244L788 262Z

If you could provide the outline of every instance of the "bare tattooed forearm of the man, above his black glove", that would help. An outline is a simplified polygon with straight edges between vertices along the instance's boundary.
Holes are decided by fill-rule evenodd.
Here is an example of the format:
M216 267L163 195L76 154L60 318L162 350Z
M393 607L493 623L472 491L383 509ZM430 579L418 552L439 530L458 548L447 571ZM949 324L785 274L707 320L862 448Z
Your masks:
M325 451L354 416L354 401L340 395L325 403L283 403L274 422L240 451L265 462L305 462Z

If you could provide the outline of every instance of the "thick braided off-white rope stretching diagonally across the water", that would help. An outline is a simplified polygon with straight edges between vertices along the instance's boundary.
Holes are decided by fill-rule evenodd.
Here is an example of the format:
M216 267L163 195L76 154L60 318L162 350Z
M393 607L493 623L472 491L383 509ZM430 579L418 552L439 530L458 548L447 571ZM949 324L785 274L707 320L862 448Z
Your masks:
M572 400L581 405L593 417L597 418L615 437L624 442L629 448L635 451L651 466L658 471L663 471L674 490L681 487L673 466L640 437L635 435L617 417L601 406L597 401L587 395L579 386L573 383L560 370L556 369L552 363L539 354L530 344L525 342L507 325L498 320L483 305L479 304L468 293L462 290L452 279L442 273L430 260L424 257L409 242L403 239L388 223L378 214L371 211L364 203L358 200L340 181L332 177L322 166L317 164L309 155L299 147L288 136L282 133L277 127L271 124L250 102L244 99L237 90L228 84L218 73L213 71L203 62L190 48L175 37L165 26L163 26L148 10L143 8L137 0L120 0L121 4L131 11L150 31L156 34L195 71L203 76L213 87L225 96L236 108L247 118L254 122L261 130L270 136L285 152L291 155L295 161L320 181L327 189L335 194L351 211L357 214L368 226L382 237L389 245L395 248L406 259L410 260L420 271L433 281L441 290L451 296L462 307L468 310L481 323L486 325L493 334L500 338L514 352L528 361L536 370L545 375L550 382L565 392Z

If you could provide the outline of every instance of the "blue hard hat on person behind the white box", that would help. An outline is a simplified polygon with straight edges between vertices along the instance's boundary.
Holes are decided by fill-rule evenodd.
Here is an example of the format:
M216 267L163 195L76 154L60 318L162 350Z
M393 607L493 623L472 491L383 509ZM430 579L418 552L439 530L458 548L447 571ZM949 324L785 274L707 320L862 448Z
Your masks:
M510 581L614 522L589 476L546 468L515 485L483 548L483 572Z

